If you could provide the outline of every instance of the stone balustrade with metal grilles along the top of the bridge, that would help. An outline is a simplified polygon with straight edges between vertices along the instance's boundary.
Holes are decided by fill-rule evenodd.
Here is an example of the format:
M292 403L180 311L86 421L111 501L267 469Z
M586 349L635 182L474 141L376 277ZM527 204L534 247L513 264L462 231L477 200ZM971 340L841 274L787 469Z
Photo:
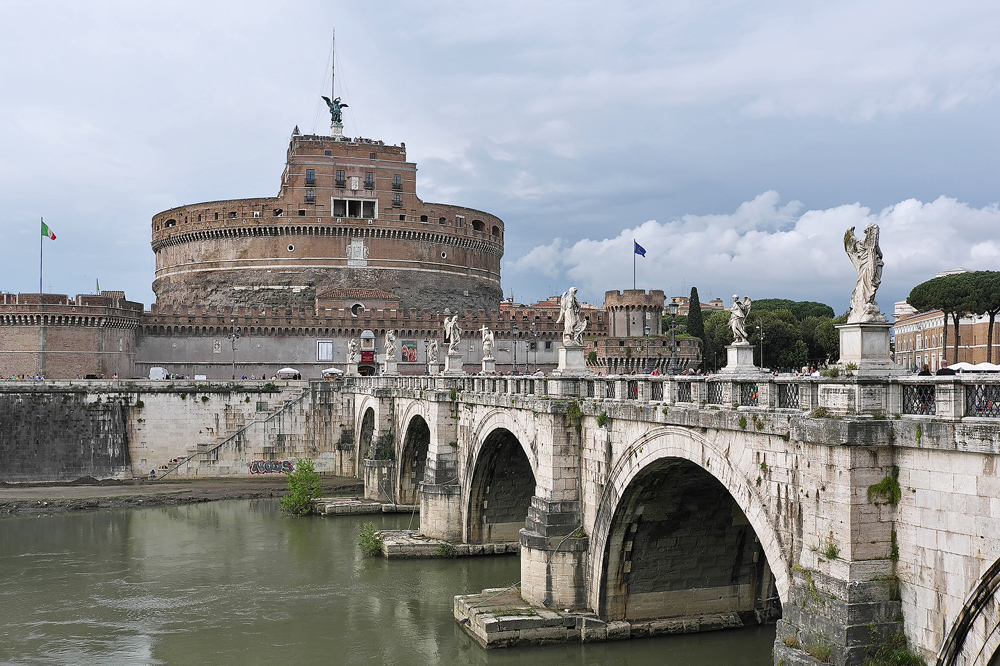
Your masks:
M361 391L447 389L476 394L650 402L702 408L761 408L835 414L935 416L1000 419L1000 374L919 377L757 377L595 375L527 376L378 376L348 378ZM862 398L876 396L875 399Z

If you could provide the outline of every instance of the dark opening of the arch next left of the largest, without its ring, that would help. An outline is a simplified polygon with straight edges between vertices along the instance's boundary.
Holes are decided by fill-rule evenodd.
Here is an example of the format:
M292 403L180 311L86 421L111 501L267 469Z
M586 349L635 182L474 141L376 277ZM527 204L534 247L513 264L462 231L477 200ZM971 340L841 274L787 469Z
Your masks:
M469 543L517 541L535 494L535 475L521 443L510 430L486 436L469 492Z

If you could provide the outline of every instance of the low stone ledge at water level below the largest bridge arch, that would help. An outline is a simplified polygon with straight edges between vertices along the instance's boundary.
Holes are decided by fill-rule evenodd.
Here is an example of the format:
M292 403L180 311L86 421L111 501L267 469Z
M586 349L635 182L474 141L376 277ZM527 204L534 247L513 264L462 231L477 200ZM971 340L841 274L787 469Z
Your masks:
M486 649L617 641L744 626L738 613L605 622L587 611L534 606L522 599L516 588L455 597L455 620Z

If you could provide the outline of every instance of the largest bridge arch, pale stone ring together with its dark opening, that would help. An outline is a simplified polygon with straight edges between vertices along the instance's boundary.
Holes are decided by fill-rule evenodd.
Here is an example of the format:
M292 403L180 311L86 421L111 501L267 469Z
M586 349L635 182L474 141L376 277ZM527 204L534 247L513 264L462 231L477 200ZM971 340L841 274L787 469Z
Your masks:
M709 577L725 578L724 566L730 567L731 579L716 585L703 583L704 604L699 606L697 593L687 595L685 603L691 612L682 610L682 614L716 612L712 609L722 608L727 603L729 610L726 612L749 610L739 608L740 604L745 606L748 597L751 601L759 599L760 595L766 599L770 575L774 576L779 600L788 599L789 564L781 549L777 528L756 489L733 466L726 453L687 428L664 426L642 435L618 457L597 507L588 563L590 605L601 617L648 619L657 608L662 608L663 603L674 603L668 600L674 599L672 594L682 589L676 585L679 581L663 580L663 576L657 579L645 571L633 573L633 560L648 561L662 553L669 554L671 548L676 554L677 549L685 549L685 544L670 545L670 539L690 538L690 534L699 530L735 552L734 561L719 563L712 576L706 576L706 581ZM654 480L657 482L650 483ZM712 506L725 507L727 503L729 513L706 510ZM651 505L648 509L647 504ZM666 507L679 508L666 510ZM645 519L644 510L647 511ZM752 534L747 534L746 526L752 528ZM637 539L628 538L640 531L649 533ZM759 546L750 542L750 537L756 537ZM640 544L644 550L637 557L632 547ZM664 544L664 549L656 550L658 545ZM757 557L753 550L757 548L765 560L759 563L760 569L755 568ZM633 597L626 595L626 575L638 581L635 584L639 592L630 593ZM671 588L672 584L676 590ZM713 595L713 590L727 586L732 587L732 599L717 601L720 597ZM708 599L710 596L712 600ZM756 605L754 602L755 608ZM766 608L759 609L758 618L766 611Z

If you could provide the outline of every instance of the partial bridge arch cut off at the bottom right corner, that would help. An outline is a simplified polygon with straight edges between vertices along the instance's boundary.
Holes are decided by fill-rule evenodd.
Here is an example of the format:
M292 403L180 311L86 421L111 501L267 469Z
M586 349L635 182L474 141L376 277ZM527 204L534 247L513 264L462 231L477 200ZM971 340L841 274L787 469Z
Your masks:
M979 577L935 666L1000 666L1000 559Z

